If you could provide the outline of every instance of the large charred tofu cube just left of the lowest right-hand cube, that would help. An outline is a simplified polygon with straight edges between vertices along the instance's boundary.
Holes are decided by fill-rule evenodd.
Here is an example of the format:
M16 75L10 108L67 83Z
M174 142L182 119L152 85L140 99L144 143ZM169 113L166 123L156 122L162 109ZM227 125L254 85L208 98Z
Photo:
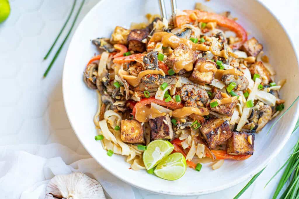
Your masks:
M199 128L200 133L204 136L211 149L228 140L232 132L229 128L228 120L212 117L207 119Z

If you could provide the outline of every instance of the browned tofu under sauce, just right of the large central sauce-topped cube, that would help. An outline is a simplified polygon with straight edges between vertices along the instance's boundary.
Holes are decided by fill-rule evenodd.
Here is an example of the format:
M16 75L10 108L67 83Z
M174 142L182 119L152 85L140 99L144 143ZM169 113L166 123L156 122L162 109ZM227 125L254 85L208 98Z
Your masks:
M197 59L196 63L195 63L195 67L197 68L200 65L202 65L202 63L211 63L213 65L215 65L216 67L216 63L211 62L211 61L206 61L204 58L199 58ZM212 83L212 81L214 80L215 74L212 71L208 71L208 72L199 72L198 70L193 70L192 74L190 75L189 79L195 83Z

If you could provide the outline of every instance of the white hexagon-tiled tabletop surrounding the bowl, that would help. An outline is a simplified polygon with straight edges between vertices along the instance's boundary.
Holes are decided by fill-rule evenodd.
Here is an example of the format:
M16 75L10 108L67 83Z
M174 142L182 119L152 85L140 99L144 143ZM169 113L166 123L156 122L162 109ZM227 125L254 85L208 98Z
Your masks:
M98 0L86 1L77 24L97 2ZM262 2L284 24L298 49L299 43L295 35L299 34L299 24L296 23L296 19L299 17L297 13L299 3L295 0L288 1L287 4L284 1L263 0ZM42 58L66 20L71 4L72 1L66 0L10 1L11 15L7 21L0 24L0 65L2 69L0 73L0 145L54 142L87 155L70 127L62 101L62 67L68 42L48 77L42 79L42 74L62 39L58 41L58 45L55 46L48 60L43 61ZM79 2L75 10L78 5ZM261 23L263 23L262 19ZM64 36L65 33L61 38ZM271 161L241 198L271 197L279 178L275 178L266 189L263 187L287 159L287 154L298 137L298 133L292 135L277 158ZM243 182L225 191L198 198L233 198L246 183ZM136 198L176 198L133 189Z

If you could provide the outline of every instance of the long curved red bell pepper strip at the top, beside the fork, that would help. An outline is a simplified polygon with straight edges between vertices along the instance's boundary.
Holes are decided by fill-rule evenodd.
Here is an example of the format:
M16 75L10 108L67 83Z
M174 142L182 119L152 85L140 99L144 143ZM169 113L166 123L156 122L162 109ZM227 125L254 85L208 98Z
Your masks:
M178 27L181 27L184 24L188 24L190 22L193 22L190 18L190 15L194 13L197 16L197 20L200 22L217 22L217 25L221 27L225 27L230 29L231 31L235 32L237 37L241 40L238 43L234 43L231 45L231 48L238 49L242 44L247 40L247 32L245 29L238 24L236 21L231 20L225 16L218 15L216 13L209 13L205 11L200 10L184 10L187 15L181 15L176 17L176 25Z

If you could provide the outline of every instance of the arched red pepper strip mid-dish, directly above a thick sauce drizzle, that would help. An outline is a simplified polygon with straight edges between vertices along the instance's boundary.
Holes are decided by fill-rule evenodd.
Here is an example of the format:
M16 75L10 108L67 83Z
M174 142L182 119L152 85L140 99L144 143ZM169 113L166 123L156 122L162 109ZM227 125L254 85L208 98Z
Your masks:
M132 114L135 116L136 113L136 109L143 107L147 104L150 103L155 103L161 106L166 106L167 108L172 108L172 109L177 109L177 108L183 108L184 105L183 104L177 104L174 102L165 102L164 100L160 100L160 99L155 99L155 97L150 97L150 98L143 98L141 99L139 102L137 102L133 108Z

